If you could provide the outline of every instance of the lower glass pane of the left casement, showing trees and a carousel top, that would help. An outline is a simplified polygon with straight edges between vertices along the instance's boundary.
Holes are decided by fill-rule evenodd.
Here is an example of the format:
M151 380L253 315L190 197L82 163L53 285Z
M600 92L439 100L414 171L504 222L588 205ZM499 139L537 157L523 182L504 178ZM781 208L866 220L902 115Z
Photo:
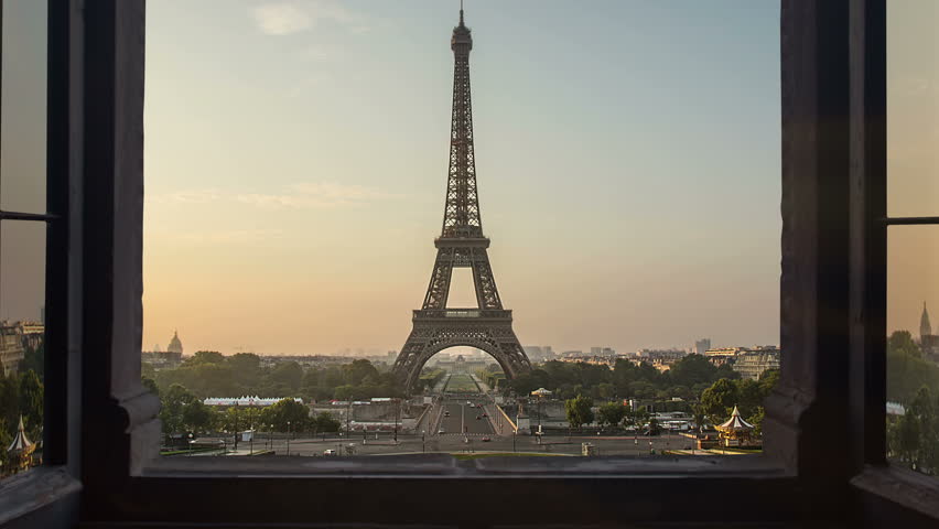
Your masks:
M0 223L0 467L42 463L45 224ZM20 429L22 421L22 429Z

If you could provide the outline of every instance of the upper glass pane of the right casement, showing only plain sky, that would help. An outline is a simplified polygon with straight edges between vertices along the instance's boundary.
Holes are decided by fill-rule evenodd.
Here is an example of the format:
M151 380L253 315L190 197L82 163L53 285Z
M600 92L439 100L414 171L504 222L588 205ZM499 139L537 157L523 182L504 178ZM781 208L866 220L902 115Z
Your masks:
M887 213L939 215L939 3L887 2Z

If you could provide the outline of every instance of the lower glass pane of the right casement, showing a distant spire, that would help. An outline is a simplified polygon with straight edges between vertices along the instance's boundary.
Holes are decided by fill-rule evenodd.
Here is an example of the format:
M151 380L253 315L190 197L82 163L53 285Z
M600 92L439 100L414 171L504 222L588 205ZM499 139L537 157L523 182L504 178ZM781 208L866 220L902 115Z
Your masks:
M887 456L939 473L939 226L893 226L887 277ZM933 326L935 325L935 326Z

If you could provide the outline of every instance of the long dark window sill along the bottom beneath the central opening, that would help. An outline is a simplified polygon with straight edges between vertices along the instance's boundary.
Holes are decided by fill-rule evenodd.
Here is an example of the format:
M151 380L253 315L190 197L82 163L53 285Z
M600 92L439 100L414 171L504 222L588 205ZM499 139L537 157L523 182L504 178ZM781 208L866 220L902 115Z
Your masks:
M842 490L846 487L800 483L758 455L181 456L155 460L106 490L86 521L316 520L324 527L441 520L479 527L493 520L506 526L705 521L723 527L730 521L834 520ZM154 497L161 500L154 503ZM677 497L682 509L674 508ZM732 512L713 508L727 497L734 498ZM274 505L277 509L265 507Z

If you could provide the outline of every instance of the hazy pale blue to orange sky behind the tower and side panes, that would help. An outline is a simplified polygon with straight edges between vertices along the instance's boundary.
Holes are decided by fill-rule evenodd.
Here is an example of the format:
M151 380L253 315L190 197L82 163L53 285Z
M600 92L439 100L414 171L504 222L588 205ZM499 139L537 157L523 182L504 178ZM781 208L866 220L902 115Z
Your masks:
M42 209L43 3L4 2L8 209ZM778 2L585 6L466 3L483 226L521 343L778 343ZM148 3L145 349L174 330L187 353L400 348L443 215L457 9ZM936 8L889 9L891 213L931 215ZM0 317L39 317L42 229L0 229ZM939 319L939 228L891 234L888 326L915 328L924 301Z

